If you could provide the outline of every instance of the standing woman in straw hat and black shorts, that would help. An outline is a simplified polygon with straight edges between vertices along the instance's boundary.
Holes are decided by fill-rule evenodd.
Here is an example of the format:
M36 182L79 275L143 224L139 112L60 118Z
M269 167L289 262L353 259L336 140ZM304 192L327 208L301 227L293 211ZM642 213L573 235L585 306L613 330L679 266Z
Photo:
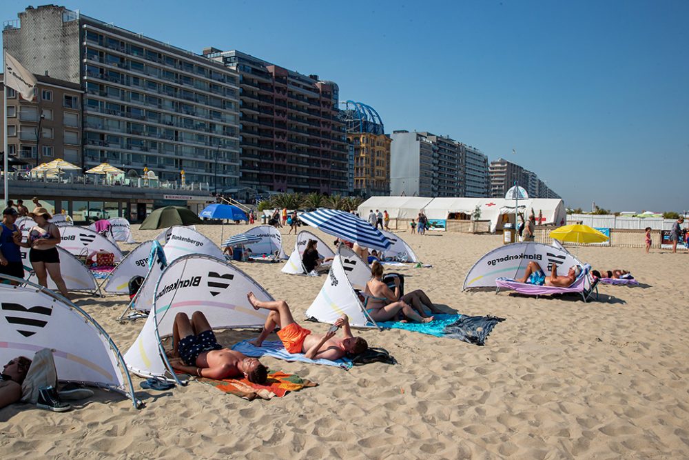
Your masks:
M29 215L36 221L36 226L29 232L29 261L36 272L39 284L47 288L50 274L60 294L69 299L65 280L60 272L60 254L55 247L62 241L60 229L54 223L48 222L50 214L45 208L36 208Z

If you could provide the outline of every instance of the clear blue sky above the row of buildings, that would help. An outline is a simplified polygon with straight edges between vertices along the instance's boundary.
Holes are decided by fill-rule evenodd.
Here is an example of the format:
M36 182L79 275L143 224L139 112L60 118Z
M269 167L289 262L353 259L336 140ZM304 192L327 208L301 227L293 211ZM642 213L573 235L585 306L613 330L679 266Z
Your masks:
M43 4L0 3L3 21ZM447 135L513 161L570 208L689 210L686 0L59 4L336 81L340 101L375 108L386 132Z

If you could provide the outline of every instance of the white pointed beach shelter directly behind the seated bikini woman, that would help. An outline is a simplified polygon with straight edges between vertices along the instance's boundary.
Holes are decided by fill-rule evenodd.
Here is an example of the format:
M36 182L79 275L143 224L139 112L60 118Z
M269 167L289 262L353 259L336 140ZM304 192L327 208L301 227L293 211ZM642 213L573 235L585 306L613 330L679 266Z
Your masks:
M368 266L354 252L341 244L333 259L333 266L305 313L307 319L320 323L334 323L342 313L347 313L349 324L356 328L376 326L366 312L355 289L362 290L371 279Z

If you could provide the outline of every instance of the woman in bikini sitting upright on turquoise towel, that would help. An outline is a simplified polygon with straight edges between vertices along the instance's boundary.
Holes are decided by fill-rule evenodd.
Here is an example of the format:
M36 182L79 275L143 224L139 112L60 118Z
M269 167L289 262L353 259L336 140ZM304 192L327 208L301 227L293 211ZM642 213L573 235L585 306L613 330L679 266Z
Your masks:
M371 279L366 283L366 288L364 289L364 294L368 296L366 311L373 321L389 321L395 318L400 311L402 311L405 317L417 323L433 321L433 317L422 317L409 305L412 302L420 304L420 291L415 291L413 295L411 293L407 294L400 299L400 279L395 278L395 292L393 292L383 283L382 276L382 264L378 261L373 261ZM423 296L430 302L426 294L423 294ZM421 306L419 308L423 311Z

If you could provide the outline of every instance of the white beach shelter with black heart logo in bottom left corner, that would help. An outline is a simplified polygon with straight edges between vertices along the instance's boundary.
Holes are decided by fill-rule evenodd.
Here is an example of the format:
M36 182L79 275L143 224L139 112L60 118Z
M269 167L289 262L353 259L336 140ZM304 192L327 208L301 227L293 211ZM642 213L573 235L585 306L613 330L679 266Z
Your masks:
M21 286L0 283L0 315L1 362L51 348L61 381L120 392L138 406L122 355L79 306L30 281Z

